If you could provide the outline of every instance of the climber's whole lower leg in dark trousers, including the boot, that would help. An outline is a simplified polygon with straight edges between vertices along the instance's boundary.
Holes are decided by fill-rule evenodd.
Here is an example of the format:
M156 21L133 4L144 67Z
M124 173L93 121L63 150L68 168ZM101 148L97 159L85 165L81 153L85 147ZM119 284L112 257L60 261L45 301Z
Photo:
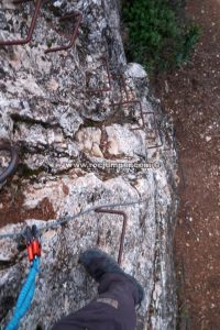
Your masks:
M63 318L53 330L134 330L135 305L143 299L141 285L99 250L85 252L79 261L99 282L99 295L82 309Z

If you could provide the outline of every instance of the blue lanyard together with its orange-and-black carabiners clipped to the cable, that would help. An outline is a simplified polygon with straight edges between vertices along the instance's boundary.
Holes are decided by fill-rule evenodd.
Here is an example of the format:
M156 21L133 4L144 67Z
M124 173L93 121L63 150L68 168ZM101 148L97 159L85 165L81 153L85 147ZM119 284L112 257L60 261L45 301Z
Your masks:
M26 240L26 249L31 268L19 295L13 317L7 326L6 330L16 330L20 320L24 317L24 315L31 307L31 302L35 292L35 279L37 273L40 272L41 243L38 241L36 226L33 226L32 229L28 227L24 237Z

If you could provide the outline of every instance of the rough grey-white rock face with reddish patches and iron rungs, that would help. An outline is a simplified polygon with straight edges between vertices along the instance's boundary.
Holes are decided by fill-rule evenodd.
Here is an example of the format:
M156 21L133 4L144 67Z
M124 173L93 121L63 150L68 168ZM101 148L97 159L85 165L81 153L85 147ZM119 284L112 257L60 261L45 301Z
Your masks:
M16 7L0 4L0 40L26 35L34 3ZM74 46L45 54L68 43L73 20L63 25L58 19L72 12L82 14ZM106 205L128 215L122 267L145 289L138 329L175 329L172 127L144 69L127 64L118 1L45 2L32 41L0 46L0 139L20 150L16 175L0 191L0 215L9 212L6 200L18 212L0 235L36 223L43 248L36 293L20 329L50 329L96 296L96 284L77 261L97 245L118 256L122 217L94 211ZM90 208L55 224L54 219ZM28 270L25 249L1 238L1 327L12 316Z

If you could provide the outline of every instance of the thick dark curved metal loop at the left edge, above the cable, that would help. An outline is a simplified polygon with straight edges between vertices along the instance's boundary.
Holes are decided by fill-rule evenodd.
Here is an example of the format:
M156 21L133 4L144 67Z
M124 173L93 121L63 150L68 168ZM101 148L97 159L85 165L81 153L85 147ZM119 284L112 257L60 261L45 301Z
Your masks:
M11 162L9 166L0 173L0 185L4 184L6 179L12 175L18 164L18 151L14 146L8 143L0 144L0 151L7 151L10 153Z

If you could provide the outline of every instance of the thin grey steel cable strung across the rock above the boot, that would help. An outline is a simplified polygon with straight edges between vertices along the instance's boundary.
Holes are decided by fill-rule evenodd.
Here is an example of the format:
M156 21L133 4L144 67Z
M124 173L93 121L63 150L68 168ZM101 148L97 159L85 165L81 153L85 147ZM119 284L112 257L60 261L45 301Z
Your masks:
M67 223L67 222L73 221L73 220L75 220L79 217L82 217L82 216L86 216L86 215L88 215L92 211L96 211L99 208L117 208L117 207L133 206L133 205L143 204L144 201L146 201L146 200L141 200L140 199L140 200L135 200L135 201L128 201L128 202L121 202L121 204L98 205L98 206L89 208L85 211L78 212L75 216L68 216L68 217L65 217L65 218L59 218L59 219L55 220L53 223L45 224L45 226L40 226L40 227L37 227L37 230L38 230L40 233L42 233L44 230L57 228L57 227L59 227L64 223ZM20 231L19 233L0 234L0 240L3 240L3 239L15 239L15 240L18 240L20 238L23 238L24 234L25 234L24 230Z

